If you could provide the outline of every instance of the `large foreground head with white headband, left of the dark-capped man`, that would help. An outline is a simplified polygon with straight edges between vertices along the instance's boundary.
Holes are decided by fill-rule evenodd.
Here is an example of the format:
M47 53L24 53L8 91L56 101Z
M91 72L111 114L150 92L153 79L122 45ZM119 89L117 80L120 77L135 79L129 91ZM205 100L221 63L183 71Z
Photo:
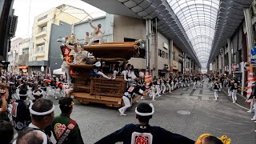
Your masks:
M29 127L34 130L42 131L42 137L48 136L47 143L50 142L50 131L46 131L46 127L53 122L54 119L54 104L49 99L39 98L30 105L30 114L32 122Z

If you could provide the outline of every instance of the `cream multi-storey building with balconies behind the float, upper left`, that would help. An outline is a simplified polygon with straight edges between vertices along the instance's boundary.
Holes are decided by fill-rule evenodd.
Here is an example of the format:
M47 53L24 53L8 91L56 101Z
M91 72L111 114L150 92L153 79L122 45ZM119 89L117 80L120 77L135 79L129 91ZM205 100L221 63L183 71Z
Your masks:
M71 34L72 24L80 22L85 18L91 18L90 14L87 14L85 10L65 4L35 17L32 30L33 46L31 46L29 50L29 62L26 62L26 66L29 66L29 71L41 71L41 67L43 66L43 73L47 73L50 71L50 63L53 62L54 68L60 68L62 64L59 50L60 45L58 45L58 47L52 46L56 46L54 43L56 43L59 37L65 37ZM58 32L59 35L56 35L56 32ZM53 60L54 58L51 57L51 54L55 54L55 52L51 53L50 50L55 49L59 50L59 54L54 55L54 58L58 59L58 62L55 62ZM50 62L50 60L53 60L53 62Z

